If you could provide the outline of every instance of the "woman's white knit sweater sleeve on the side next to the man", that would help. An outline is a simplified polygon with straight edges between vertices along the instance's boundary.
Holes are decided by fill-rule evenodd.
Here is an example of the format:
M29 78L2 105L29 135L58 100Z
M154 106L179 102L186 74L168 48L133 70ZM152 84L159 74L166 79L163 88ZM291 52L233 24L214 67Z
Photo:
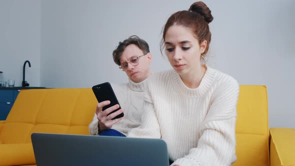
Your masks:
M138 127L132 128L128 132L128 137L160 138L160 127L156 118L152 99L149 91L144 93L143 111L141 123Z

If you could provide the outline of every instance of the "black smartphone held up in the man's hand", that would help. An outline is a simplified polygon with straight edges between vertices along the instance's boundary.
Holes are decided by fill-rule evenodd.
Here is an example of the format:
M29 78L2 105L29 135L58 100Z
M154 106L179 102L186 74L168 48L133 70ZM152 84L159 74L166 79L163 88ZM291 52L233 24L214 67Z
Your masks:
M92 86L92 90L93 90L94 95L95 95L98 102L102 102L105 100L110 101L110 104L102 107L102 111L108 107L115 105L115 104L120 105L109 82L104 82L104 83L94 85L94 86ZM121 106L119 106L119 108L113 110L109 114L119 110L120 108L121 108ZM112 119L116 119L116 118L123 117L123 116L124 116L124 113L122 112L121 114L115 116Z

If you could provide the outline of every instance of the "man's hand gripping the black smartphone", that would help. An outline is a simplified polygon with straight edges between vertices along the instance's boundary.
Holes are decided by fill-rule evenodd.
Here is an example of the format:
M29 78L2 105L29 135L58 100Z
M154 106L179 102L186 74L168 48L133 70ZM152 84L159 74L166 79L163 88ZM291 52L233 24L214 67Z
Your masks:
M110 129L114 123L120 121L124 117L123 116L120 118L113 119L115 116L117 116L123 112L122 109L119 109L113 113L110 113L110 112L114 111L115 109L119 108L118 104L108 107L102 111L102 107L105 105L108 105L108 104L110 104L110 101L106 100L106 101L98 102L96 105L95 113L97 115L100 131L103 131L105 129Z

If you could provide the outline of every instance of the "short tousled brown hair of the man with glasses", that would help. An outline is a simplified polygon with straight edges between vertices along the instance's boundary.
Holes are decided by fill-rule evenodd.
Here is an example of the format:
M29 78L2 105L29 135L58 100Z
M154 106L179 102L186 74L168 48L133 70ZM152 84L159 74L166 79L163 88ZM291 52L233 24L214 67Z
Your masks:
M149 46L146 41L144 41L136 35L131 35L123 42L119 42L118 46L112 51L113 61L117 65L121 65L120 57L122 55L122 52L124 51L125 47L130 44L136 45L144 54L149 52Z

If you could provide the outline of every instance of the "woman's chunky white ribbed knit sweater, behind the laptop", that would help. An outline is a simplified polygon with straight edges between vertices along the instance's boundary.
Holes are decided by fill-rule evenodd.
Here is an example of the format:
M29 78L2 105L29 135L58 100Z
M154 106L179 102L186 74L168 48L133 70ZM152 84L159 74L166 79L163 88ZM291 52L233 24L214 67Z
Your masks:
M235 156L237 81L207 70L197 88L174 70L153 73L144 94L141 124L130 137L162 138L172 165L230 165Z

